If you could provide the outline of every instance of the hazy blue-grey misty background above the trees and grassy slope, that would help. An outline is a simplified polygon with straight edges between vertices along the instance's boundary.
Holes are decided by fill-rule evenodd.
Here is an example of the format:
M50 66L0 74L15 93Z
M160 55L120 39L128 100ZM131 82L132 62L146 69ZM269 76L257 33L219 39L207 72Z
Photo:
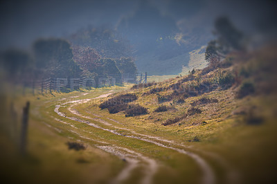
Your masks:
M276 39L276 1L1 1L1 50L29 50L35 39L92 28L109 29L130 48L139 72L181 72L189 52L213 39L213 23L226 16L251 37L251 46ZM203 53L204 50L199 50Z

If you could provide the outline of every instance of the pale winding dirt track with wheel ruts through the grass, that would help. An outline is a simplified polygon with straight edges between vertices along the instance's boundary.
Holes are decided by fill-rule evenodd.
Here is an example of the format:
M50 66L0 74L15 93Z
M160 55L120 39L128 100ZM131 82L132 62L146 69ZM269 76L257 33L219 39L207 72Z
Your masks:
M111 91L109 91L111 92ZM85 94L87 95L87 94ZM107 93L104 95L100 95L97 98L105 98L108 95L111 95L111 93ZM74 96L72 98L78 98L79 96ZM175 143L172 140L166 140L165 138L161 138L161 137L156 137L156 136L150 136L150 135L146 135L146 134L139 134L136 133L135 131L133 131L132 129L126 129L123 127L117 127L115 125L112 125L111 123L102 120L100 115L97 115L95 113L92 114L92 116L95 116L96 118L93 118L91 116L83 116L81 113L79 113L78 111L76 111L75 109L73 109L74 106L78 105L78 104L82 104L82 103L87 103L92 99L97 99L97 98L91 98L91 99L82 99L82 100L69 100L67 102L64 102L62 104L57 104L55 105L55 113L57 113L58 116L61 116L63 118L68 118L69 120L74 120L77 122L82 122L82 123L86 123L87 125L90 125L96 129L102 129L104 131L109 131L111 132L111 134L116 134L118 136L125 136L127 138L134 138L134 139L138 139L138 140L142 140L145 142L150 142L154 145L157 145L159 147L164 147L166 149L172 149L175 151L178 151L180 154L185 154L187 156L190 156L190 158L193 158L193 160L195 160L195 163L197 163L197 165L199 165L199 167L202 169L202 184L212 184L215 183L215 174L213 172L213 169L211 169L210 165L208 165L208 163L206 163L206 161L199 155L191 152L191 151L186 151L185 149L179 149L175 146L178 147L184 147L186 148L184 145L180 145ZM64 99L63 99L64 100ZM68 105L71 104L71 105ZM69 117L66 116L64 113L62 113L60 111L60 107L66 107L73 115L78 116L80 118L76 118L76 117ZM54 118L54 117L53 117ZM86 119L86 120L84 120ZM120 125L121 123L113 120L111 118L107 118L108 120L111 120L113 122L118 123L118 125ZM59 120L57 118L55 118L55 120L58 120L60 122L66 123L62 120ZM100 125L96 125L95 123L89 121L89 120L93 120L95 122L99 122L100 125L104 125L104 127L100 126ZM72 127L73 125L71 125ZM109 127L109 128L106 128ZM129 135L124 135L124 134L120 134L118 131L116 131L117 129L121 129L121 130L125 130L125 131L129 131ZM74 132L73 132L74 133ZM76 132L75 132L76 133ZM78 134L78 133L76 133ZM91 138L87 138L84 137L80 134L78 134L78 136L82 137L82 138L86 138L88 140L90 140ZM114 147L111 145L108 145L107 142L104 141L99 141L99 140L93 140L95 142L99 142L100 144L107 144L107 145L98 145L97 147L99 149L102 149L104 151L107 151L111 154L114 154L116 156L118 156L121 159L124 159L127 161L127 166L125 167L125 169L123 169L120 174L118 174L118 176L114 179L113 183L120 183L122 181L124 181L125 179L127 179L129 177L130 174L132 174L132 170L135 169L136 167L139 167L139 165L143 165L143 167L145 167L145 174L144 174L144 178L142 179L141 183L152 183L152 176L154 176L155 172L157 172L157 168L159 167L159 165L157 164L156 160L153 160L151 158L148 158L146 156L143 156L140 153L137 153L136 151L127 149L127 148L123 148L123 147ZM197 150L199 151L199 150ZM204 154L209 154L209 153L205 153ZM216 160L223 160L222 158L220 158L219 156L215 155L215 154L210 154L211 157L214 157ZM231 170L229 168L229 165L226 164L226 162L224 162L224 160L222 161L222 163L224 163L224 167L226 167L225 169L227 170ZM222 164L223 165L223 164ZM229 174L227 174L229 176ZM226 178L226 180L228 181L229 178Z

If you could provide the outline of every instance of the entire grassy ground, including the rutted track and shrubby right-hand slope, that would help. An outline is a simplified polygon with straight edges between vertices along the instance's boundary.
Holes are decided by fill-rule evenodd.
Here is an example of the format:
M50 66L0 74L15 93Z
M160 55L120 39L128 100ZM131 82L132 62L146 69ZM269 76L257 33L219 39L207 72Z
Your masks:
M274 183L274 50L233 53L163 82L67 94L10 93L1 110L1 178L10 183ZM18 140L27 100L24 156ZM71 149L69 142L84 147Z

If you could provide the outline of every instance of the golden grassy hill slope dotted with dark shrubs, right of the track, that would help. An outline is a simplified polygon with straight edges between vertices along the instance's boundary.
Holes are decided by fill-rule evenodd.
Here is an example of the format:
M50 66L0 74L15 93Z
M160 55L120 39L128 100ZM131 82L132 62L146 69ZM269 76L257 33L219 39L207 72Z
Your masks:
M222 156L235 168L230 181L276 181L275 49L233 53L216 66L184 77L134 85L127 93L111 96L112 105L102 101L107 107L101 108L133 122L134 129ZM128 94L136 98L125 106L117 103ZM213 159L215 165L225 162Z

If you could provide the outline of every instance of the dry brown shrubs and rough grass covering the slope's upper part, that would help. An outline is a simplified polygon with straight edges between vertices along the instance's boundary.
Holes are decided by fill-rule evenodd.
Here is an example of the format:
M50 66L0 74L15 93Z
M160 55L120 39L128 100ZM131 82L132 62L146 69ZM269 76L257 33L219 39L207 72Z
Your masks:
M220 91L226 91L226 93L222 94L228 94L232 99L233 94L235 94L238 100L253 93L260 93L259 86L262 82L259 82L259 80L266 78L267 75L265 75L265 72L258 73L260 71L258 67L262 66L265 68L263 70L267 71L269 69L266 66L269 64L252 64L252 60L251 55L248 55L247 58L244 55L229 55L226 59L214 62L202 70L195 69L186 76L175 77L164 82L135 84L131 89L135 90L131 93L119 95L118 98L111 98L100 104L99 107L101 109L107 108L109 113L124 111L125 116L139 116L148 113L145 107L139 106L139 104L144 102L146 106L149 105L150 112L153 113L153 119L163 120L162 125L165 126L175 124L185 118L189 121L189 125L193 125L191 122L193 121L192 118L188 116L195 116L202 113L202 111L204 113L193 117L194 119L197 118L195 122L198 122L198 124L203 120L218 118L222 113L224 114L223 116L226 116L226 113L218 111L219 108L226 107L226 104L219 102L221 98L217 94L221 93ZM263 82L265 83L265 81ZM272 86L274 85L269 85L271 90L263 91L263 93L274 91ZM136 89L143 89L143 91ZM217 93L217 91L219 92ZM216 95L216 97L209 94ZM226 96L226 98L229 97ZM134 100L137 99L139 99L138 102L134 103ZM158 102L158 104L148 103L150 99L154 99L154 102ZM222 100L224 99L222 98ZM190 104L186 103L186 101L190 102ZM128 104L128 102L132 102L132 105ZM187 110L184 111L184 108ZM230 112L228 113L233 111L231 108L229 107ZM171 111L173 109L174 111ZM168 112L169 110L170 112ZM162 113L164 113L168 120L155 117ZM177 113L184 113L186 115L179 116Z

